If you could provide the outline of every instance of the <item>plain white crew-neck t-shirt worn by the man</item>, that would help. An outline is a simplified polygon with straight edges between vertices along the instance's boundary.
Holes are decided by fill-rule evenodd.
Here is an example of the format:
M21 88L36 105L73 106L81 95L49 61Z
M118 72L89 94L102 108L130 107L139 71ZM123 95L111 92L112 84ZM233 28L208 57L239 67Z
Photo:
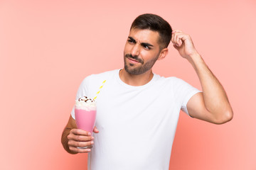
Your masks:
M176 77L157 74L143 86L129 86L119 69L92 74L78 89L76 98L97 95L95 144L88 154L89 170L169 169L178 115L200 92ZM74 109L71 113L75 118Z

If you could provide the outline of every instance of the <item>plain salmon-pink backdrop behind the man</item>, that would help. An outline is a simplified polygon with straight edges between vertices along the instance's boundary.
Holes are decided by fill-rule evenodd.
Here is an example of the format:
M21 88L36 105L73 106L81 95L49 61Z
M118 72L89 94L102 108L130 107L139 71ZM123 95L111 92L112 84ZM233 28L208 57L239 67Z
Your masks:
M60 144L75 93L87 75L123 67L129 26L142 13L191 35L234 111L224 125L181 113L170 169L256 169L255 0L0 1L0 169L87 169L87 154ZM169 50L154 72L201 89Z

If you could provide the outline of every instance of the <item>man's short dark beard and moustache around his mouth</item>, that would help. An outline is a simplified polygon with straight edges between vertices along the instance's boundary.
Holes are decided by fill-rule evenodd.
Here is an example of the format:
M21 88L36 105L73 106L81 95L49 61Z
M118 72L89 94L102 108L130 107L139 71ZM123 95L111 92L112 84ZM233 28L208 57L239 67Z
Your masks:
M154 66L154 63L156 62L158 57L159 57L159 55L157 55L152 60L149 60L148 62L144 62L144 60L139 58L137 55L136 56L132 56L130 54L124 55L124 69L129 74L143 74L144 72L149 71L149 69L151 69ZM140 65L135 66L135 64L127 63L126 58L136 60L137 62L140 63Z

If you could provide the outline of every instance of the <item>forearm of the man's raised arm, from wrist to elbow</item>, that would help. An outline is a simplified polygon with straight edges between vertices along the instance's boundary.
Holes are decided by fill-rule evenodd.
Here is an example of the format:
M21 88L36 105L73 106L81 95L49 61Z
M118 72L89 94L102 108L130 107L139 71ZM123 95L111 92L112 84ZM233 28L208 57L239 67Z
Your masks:
M215 118L223 118L233 115L228 97L220 84L220 81L210 71L203 58L198 53L191 56L190 61L198 74L203 89L203 101L206 109L215 115Z

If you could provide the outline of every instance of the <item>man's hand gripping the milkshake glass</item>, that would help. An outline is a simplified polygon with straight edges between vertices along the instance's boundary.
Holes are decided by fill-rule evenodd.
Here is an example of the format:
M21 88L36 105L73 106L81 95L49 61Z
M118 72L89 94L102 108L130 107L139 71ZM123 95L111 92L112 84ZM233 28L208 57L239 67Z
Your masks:
M72 129L68 135L68 148L71 152L87 153L90 152L93 145L92 134L85 130ZM82 147L87 147L83 149Z

